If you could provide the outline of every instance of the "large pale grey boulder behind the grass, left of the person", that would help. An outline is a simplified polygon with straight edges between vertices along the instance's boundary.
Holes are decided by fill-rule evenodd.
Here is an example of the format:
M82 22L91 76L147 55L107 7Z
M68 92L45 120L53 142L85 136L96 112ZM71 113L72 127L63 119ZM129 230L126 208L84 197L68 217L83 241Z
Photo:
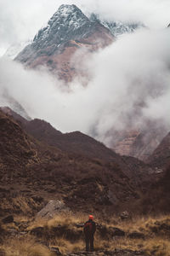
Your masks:
M37 212L37 217L40 218L53 218L54 215L61 211L67 212L69 209L65 207L65 203L59 200L51 200L46 207L43 207L40 212Z

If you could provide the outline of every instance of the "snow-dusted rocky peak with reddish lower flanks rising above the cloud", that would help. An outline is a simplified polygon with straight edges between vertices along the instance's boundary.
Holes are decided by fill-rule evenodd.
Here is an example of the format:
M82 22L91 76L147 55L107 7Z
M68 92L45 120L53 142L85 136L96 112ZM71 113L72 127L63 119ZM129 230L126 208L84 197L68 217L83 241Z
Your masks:
M109 29L90 21L76 5L63 4L15 60L29 67L46 65L60 79L71 81L77 73L71 61L77 49L94 51L112 42Z

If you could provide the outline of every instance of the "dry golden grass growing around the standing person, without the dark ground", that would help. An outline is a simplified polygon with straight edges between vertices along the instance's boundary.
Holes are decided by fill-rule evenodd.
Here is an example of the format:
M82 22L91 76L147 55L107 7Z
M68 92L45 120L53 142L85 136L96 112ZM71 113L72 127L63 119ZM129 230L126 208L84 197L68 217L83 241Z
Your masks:
M67 229L73 230L75 234L79 234L76 224L83 224L87 220L88 216L86 214L71 214L70 213L60 213L52 219L47 218L36 218L34 221L30 220L30 224L27 228L27 231L31 231L37 227L43 227L44 232L53 234L49 239L49 247L59 247L61 253L67 252L77 252L82 251L85 247L85 242L83 235L80 236L80 239L70 240L65 238L65 234L55 236L54 227L62 226L65 227L65 232ZM156 255L156 256L169 256L170 255L170 241L169 234L167 236L167 230L160 230L159 228L163 225L170 227L170 216L159 216L159 217L137 217L132 220L122 221L118 218L110 218L110 221L99 220L98 218L94 219L97 223L105 225L106 229L116 227L124 230L126 236L124 237L105 237L100 236L99 230L95 234L94 247L96 250L114 250L115 248L119 249L130 249L133 251L143 250L146 255ZM28 218L18 218L18 221L28 221ZM4 229L16 228L14 224L3 225ZM17 229L17 228L16 228ZM154 231L154 230L158 231ZM82 228L79 228L82 230ZM144 234L145 239L130 239L128 234L137 231ZM82 234L82 233L81 233ZM32 237L32 238L31 238ZM4 249L7 256L48 256L52 255L47 247L42 246L35 242L36 236L29 236L26 240L14 241L10 240L6 242L1 249ZM42 239L44 239L43 236ZM155 254L154 254L155 253Z

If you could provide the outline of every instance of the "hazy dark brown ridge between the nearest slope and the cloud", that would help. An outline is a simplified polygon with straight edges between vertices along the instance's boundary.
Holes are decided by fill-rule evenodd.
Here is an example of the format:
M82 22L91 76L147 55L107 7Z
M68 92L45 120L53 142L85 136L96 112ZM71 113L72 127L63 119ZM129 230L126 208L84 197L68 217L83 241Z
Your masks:
M106 148L103 143L99 143L80 131L63 134L44 120L33 119L28 121L14 113L10 108L2 108L2 110L18 120L23 128L38 141L59 148L68 154L82 155L97 162L101 160L116 163L127 177L132 178L132 183L135 186L146 183L146 181L149 183L150 179L153 178L150 176L150 172L154 172L154 170L150 170L150 166L145 165L144 162L133 157L121 157L110 148Z

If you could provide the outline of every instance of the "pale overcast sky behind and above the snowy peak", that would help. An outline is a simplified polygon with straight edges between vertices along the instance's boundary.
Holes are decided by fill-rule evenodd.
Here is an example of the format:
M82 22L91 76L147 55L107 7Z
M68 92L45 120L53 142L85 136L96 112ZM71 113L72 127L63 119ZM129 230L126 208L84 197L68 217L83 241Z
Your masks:
M33 38L62 3L107 19L139 20L154 29L170 23L170 0L0 0L0 55L11 44Z

